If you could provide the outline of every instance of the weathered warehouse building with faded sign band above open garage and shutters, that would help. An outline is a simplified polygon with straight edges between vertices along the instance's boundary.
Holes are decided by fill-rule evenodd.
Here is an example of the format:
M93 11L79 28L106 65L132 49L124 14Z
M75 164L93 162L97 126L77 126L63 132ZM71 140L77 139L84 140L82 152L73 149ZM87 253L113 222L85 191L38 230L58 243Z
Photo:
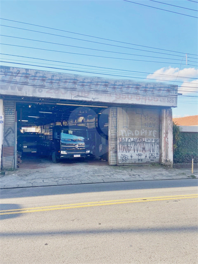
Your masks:
M177 89L157 82L1 66L1 169L17 168L20 151L39 152L34 136L51 140L54 126L74 125L87 128L90 154L109 165L171 167L171 108L177 107ZM22 134L34 148L23 148Z

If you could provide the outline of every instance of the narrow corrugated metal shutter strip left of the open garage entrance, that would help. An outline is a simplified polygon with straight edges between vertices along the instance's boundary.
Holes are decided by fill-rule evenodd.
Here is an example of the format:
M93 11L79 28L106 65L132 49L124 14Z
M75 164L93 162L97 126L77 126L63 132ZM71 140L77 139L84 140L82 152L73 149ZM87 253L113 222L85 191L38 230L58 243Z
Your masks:
M3 101L4 129L2 148L2 168L14 168L15 161L15 103Z

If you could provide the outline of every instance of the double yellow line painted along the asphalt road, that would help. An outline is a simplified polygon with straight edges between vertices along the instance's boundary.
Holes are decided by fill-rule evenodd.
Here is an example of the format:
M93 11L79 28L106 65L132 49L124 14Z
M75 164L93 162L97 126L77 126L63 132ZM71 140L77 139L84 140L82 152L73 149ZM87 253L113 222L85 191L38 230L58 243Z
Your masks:
M34 213L34 212L42 212L42 211L63 210L63 209L70 209L70 208L83 208L83 207L93 207L93 206L103 206L103 205L124 204L124 203L151 202L151 201L190 199L190 198L198 198L198 194L157 196L157 197L132 198L132 199L120 199L120 200L109 200L109 201L98 201L98 202L86 202L86 203L74 203L74 204L51 205L51 206L41 206L41 207L31 207L31 208L9 209L9 210L0 210L0 215Z

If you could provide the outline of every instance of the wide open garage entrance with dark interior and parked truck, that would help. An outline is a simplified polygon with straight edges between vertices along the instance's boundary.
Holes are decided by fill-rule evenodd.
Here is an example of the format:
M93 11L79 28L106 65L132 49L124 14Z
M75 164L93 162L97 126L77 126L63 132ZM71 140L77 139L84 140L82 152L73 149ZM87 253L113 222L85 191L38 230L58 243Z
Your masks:
M107 164L107 106L26 101L16 102L16 113L18 167L40 166L41 160ZM65 149L56 146L54 159L51 148L60 141Z

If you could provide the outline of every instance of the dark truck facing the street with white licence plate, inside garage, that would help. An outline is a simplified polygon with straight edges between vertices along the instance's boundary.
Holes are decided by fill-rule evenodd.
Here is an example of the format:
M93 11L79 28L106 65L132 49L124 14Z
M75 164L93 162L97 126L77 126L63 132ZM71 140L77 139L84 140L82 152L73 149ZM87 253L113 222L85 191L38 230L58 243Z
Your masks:
M90 156L88 130L82 126L54 126L49 139L40 140L41 154L48 153L52 161Z

